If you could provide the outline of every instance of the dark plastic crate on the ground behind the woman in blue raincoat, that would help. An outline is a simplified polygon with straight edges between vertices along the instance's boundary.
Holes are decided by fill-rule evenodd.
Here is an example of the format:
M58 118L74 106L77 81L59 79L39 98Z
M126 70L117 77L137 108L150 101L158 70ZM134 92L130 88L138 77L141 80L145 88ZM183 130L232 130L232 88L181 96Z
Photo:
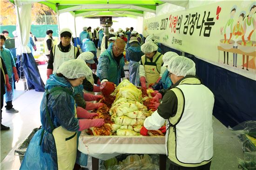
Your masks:
M29 135L28 137L20 144L18 149L15 150L15 153L19 154L20 157L20 163L22 162L25 153L27 151L28 144L30 143L32 137L34 137L34 134L36 131L38 131L40 128L35 128Z

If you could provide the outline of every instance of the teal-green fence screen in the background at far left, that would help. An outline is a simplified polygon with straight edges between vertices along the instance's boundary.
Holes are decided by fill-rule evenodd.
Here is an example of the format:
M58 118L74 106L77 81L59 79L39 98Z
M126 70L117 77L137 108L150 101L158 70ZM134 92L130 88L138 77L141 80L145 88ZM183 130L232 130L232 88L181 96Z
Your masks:
M7 30L9 32L9 37L13 38L13 31L16 30L16 26L0 26L0 31L2 33L3 30ZM44 38L47 30L53 30L53 36L58 37L58 25L32 25L30 32L36 38Z

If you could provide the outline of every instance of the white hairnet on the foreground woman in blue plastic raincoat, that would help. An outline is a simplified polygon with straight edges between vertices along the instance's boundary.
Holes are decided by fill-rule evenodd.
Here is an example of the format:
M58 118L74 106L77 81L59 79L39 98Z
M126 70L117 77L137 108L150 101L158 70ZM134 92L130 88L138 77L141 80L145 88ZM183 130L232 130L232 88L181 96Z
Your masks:
M57 69L57 73L63 74L66 78L81 78L89 75L88 65L81 59L71 59L65 61Z

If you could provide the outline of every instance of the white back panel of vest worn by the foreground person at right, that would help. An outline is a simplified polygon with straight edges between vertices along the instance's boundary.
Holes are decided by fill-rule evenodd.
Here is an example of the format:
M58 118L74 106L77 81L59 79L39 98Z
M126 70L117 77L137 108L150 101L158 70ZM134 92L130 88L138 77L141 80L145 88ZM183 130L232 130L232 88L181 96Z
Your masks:
M204 85L176 87L182 90L185 99L182 118L176 124L176 158L182 163L210 160L213 157L214 95Z

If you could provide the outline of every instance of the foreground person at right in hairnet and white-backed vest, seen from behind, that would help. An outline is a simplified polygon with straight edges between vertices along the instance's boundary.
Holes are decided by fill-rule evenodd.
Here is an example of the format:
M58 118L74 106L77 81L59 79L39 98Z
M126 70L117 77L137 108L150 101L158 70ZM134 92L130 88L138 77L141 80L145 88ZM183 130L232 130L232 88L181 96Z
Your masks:
M141 134L147 135L148 130L157 130L166 122L169 170L210 170L214 95L195 77L191 59L173 57L168 71L173 88L164 95L158 110L145 119Z

